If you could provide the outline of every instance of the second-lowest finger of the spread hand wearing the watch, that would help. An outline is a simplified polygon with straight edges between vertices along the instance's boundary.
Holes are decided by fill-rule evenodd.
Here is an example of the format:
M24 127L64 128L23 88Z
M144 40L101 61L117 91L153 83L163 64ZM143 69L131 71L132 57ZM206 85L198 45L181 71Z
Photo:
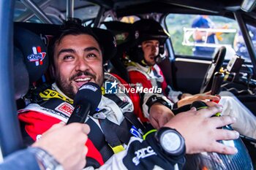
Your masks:
M216 140L235 140L239 138L239 133L221 128L215 131L214 136Z

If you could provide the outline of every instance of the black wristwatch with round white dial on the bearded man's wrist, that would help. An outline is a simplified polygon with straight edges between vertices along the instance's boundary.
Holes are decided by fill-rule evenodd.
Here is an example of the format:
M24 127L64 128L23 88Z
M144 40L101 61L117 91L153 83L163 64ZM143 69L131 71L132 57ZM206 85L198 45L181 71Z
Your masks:
M185 140L174 128L162 127L155 134L161 149L167 155L183 156L186 152Z

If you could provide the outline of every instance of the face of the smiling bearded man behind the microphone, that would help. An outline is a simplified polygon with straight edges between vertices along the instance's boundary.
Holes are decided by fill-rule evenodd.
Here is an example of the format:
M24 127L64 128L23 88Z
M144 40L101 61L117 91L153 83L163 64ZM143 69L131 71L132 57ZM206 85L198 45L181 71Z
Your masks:
M54 64L56 83L70 98L86 82L102 85L102 51L93 36L64 36L54 48Z

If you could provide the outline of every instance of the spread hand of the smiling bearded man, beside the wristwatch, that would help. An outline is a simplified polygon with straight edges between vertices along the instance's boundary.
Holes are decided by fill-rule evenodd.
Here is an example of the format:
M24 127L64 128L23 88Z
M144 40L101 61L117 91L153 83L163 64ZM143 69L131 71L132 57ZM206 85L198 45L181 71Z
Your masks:
M188 154L199 152L235 154L238 152L236 147L226 146L217 140L238 139L237 131L220 128L235 123L236 119L230 116L211 117L217 112L222 112L222 107L219 104L198 111L193 107L187 112L179 113L164 126L175 128L181 133L185 139Z

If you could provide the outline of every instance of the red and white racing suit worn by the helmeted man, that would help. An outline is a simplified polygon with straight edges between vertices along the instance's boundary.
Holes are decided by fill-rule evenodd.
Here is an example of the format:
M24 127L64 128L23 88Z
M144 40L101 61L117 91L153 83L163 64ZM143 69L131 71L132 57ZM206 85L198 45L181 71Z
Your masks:
M178 101L178 96L181 95L181 91L176 91L170 88L165 82L162 71L155 64L153 67L141 66L139 63L133 63L131 66L127 67L129 72L129 78L132 83L140 83L146 88L151 88L158 86L162 88L163 93L167 98L176 103ZM222 115L230 115L236 117L236 123L232 127L244 136L249 136L256 139L256 117L252 112L247 109L241 101L236 98L232 93L224 91L219 94L221 99L219 104L222 104L223 111ZM174 104L175 105L175 104ZM143 113L146 115L146 105L143 104Z

